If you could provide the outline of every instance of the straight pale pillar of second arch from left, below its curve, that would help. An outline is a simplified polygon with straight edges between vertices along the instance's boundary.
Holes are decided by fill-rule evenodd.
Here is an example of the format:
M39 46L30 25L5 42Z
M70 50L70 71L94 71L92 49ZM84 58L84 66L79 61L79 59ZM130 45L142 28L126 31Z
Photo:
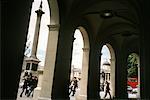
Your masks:
M83 48L82 72L80 82L80 93L77 100L87 99L87 82L88 82L88 68L89 68L89 48Z

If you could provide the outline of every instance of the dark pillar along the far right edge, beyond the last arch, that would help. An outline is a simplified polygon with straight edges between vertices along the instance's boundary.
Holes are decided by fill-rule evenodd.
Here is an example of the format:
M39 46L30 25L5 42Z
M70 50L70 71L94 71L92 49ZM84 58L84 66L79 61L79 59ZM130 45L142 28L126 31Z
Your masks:
M150 12L149 11L149 0L143 0L143 3L141 4L143 6L142 9L142 25L141 25L141 32L140 32L140 94L141 99L149 99L150 98L150 45L147 45L150 43L150 37L149 37L149 26L150 21L148 19L150 18Z

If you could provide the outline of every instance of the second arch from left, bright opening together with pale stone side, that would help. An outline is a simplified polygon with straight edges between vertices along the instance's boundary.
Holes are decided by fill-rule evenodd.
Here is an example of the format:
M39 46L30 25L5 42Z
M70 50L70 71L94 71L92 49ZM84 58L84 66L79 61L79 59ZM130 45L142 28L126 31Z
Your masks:
M78 27L78 29L76 29L74 38L70 81L72 79L74 80L74 77L76 77L78 80L78 88L74 96L72 96L73 92L70 91L71 89L69 93L70 98L82 100L87 98L89 39L83 27Z

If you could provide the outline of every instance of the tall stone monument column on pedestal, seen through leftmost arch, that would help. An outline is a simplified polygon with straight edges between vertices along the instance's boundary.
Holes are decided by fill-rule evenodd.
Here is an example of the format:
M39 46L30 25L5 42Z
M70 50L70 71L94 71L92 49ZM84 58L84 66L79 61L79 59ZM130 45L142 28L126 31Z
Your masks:
M37 20L36 20L31 56L27 57L24 60L26 62L25 71L37 76L38 75L37 69L38 69L38 64L40 60L37 58L36 54L37 54L37 46L38 46L38 40L39 40L40 23L41 23L42 14L44 14L44 12L42 11L42 1L41 1L39 9L36 10L35 12L37 13Z

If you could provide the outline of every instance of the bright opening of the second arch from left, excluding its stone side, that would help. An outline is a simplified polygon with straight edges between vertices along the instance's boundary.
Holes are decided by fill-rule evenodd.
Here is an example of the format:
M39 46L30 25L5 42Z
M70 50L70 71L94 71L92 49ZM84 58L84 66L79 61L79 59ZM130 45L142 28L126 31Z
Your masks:
M72 62L71 62L71 76L70 76L70 98L77 95L80 89L81 71L82 71L82 59L83 59L83 38L79 29L75 30L73 51L72 51Z

